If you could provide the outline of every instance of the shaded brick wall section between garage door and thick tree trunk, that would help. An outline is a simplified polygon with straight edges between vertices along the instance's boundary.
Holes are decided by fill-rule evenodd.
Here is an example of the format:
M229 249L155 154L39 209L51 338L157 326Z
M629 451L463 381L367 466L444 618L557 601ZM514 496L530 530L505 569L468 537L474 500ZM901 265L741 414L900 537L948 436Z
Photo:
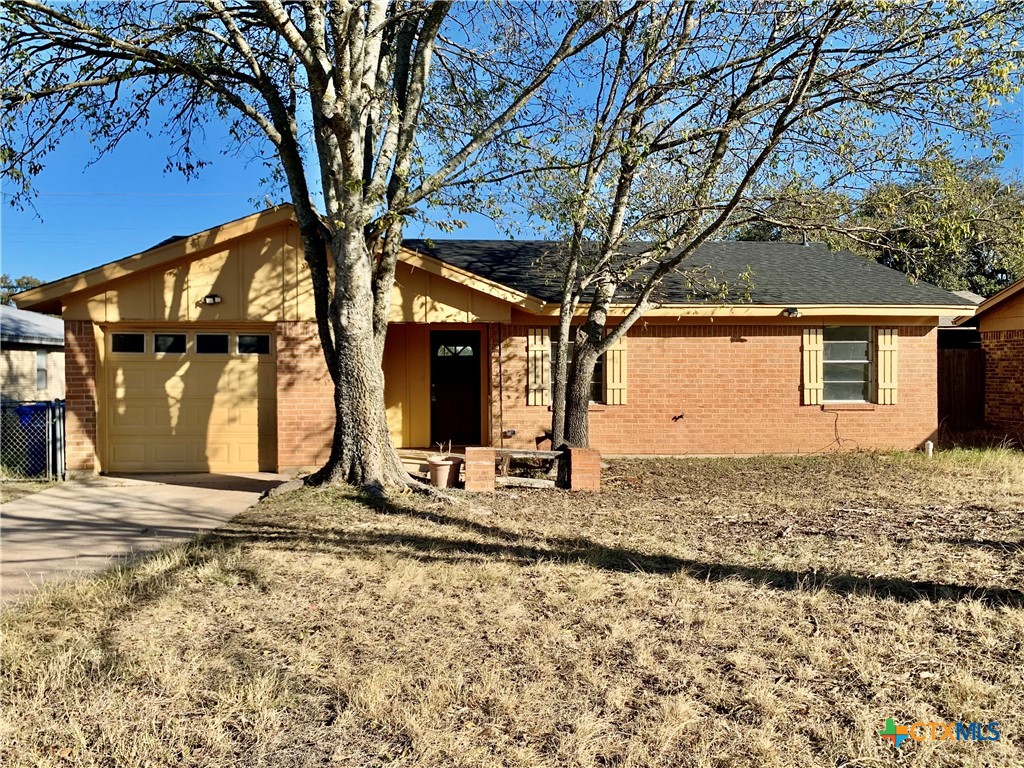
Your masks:
M318 468L331 451L334 385L316 324L279 323L278 471Z

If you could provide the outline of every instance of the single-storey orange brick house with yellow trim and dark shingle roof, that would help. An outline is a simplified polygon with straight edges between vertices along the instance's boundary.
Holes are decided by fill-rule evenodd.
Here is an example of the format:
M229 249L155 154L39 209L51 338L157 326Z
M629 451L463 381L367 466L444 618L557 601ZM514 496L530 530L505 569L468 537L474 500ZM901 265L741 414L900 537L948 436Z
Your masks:
M551 247L407 243L384 353L398 446L545 443L558 279L536 261ZM824 246L716 243L697 261L732 278L749 265L750 301L701 304L667 286L602 360L594 447L805 453L935 436L936 328L972 304ZM289 471L325 459L331 384L291 208L17 300L66 321L70 469Z

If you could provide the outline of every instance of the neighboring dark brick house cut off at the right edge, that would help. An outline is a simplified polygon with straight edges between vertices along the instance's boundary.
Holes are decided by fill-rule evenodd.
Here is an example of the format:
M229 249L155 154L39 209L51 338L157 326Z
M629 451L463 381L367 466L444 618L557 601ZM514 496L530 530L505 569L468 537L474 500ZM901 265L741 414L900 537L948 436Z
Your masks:
M1024 435L1024 280L978 305L974 317L985 350L985 421Z

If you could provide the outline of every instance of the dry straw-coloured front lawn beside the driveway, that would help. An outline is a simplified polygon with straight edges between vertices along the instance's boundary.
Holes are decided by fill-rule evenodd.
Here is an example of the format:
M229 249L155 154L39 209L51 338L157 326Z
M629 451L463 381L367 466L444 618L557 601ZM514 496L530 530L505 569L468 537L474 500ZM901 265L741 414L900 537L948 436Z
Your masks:
M1024 764L1024 455L617 461L604 483L300 490L49 589L2 615L0 762ZM1000 737L896 756L888 718Z

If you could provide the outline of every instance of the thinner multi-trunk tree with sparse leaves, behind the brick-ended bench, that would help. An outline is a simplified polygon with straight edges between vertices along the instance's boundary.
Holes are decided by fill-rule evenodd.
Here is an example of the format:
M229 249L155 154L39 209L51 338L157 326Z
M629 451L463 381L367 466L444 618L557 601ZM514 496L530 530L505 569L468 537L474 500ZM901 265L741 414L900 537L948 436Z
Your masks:
M520 185L565 244L561 338L584 315L571 364L559 349L555 440L588 443L596 361L668 275L697 299L729 293L689 259L762 220L770 190L864 188L950 132L998 145L991 117L1019 87L1022 19L1019 3L678 0L592 49L587 119Z

